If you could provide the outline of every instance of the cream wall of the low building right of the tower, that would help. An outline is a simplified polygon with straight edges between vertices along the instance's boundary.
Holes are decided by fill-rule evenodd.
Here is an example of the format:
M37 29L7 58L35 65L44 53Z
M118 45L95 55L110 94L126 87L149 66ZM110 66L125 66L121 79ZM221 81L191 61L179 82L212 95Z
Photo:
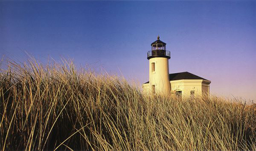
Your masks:
M170 90L172 96L175 96L176 91L182 91L182 97L190 97L190 91L195 91L195 96L209 94L210 81L205 80L175 80L170 81Z

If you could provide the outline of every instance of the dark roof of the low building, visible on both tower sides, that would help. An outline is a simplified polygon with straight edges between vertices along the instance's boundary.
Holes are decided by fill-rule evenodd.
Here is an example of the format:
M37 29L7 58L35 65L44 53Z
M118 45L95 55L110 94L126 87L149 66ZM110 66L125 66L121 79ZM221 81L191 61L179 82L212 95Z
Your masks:
M206 80L204 78L201 78L195 74L189 73L189 72L179 72L179 73L172 73L169 74L169 80L175 81L175 80ZM209 81L209 80L207 80ZM149 81L146 83L150 83ZM146 84L144 83L144 84Z

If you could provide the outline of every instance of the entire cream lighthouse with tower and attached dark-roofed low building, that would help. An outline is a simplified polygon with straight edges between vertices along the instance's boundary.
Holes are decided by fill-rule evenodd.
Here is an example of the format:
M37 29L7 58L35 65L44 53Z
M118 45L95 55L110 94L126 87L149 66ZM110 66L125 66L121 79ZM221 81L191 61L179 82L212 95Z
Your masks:
M166 51L166 43L157 37L147 52L150 62L150 80L142 85L146 94L164 94L171 97L209 96L211 81L190 72L169 74L170 52Z

